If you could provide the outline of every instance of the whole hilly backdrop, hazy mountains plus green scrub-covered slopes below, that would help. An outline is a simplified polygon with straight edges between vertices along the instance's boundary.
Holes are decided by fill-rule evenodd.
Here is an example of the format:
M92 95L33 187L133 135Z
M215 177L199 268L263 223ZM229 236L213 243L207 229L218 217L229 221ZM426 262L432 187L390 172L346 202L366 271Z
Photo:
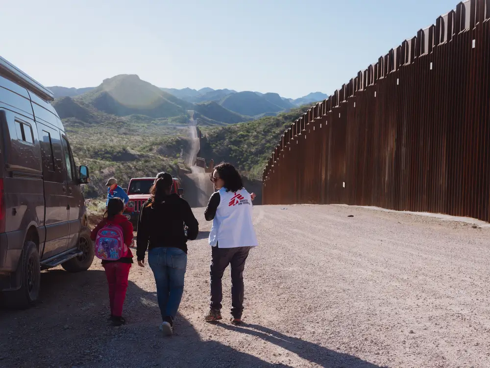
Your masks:
M188 170L190 116L203 133L200 157L229 160L260 178L278 136L311 105L295 107L276 93L164 90L136 75L104 79L93 88L51 90L75 159L90 168L86 198L104 195L107 177L127 184L135 176Z

